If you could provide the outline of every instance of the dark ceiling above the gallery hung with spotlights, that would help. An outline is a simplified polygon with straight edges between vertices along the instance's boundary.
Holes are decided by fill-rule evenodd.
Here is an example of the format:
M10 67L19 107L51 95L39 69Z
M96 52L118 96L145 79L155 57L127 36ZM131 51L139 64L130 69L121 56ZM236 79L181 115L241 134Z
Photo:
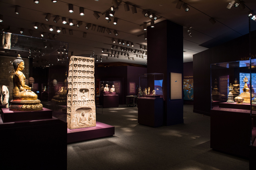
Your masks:
M55 40L64 41L69 43L68 55L74 52L74 55L78 56L102 56L103 62L126 62L136 64L146 64L146 57L136 58L134 53L130 53L130 57L135 57L135 61L128 60L127 57L119 55L119 59L108 57L106 60L106 50L104 53L102 49L111 49L112 45L118 45L118 43L112 43L111 39L114 38L129 41L134 43L132 49L140 49L139 45L147 45L147 41L144 36L138 37L145 33L143 27L140 26L143 22L150 21L150 18L145 18L142 15L142 9L148 10L158 16L158 20L155 23L170 20L183 25L184 34L184 62L193 61L193 55L204 51L208 48L214 47L220 43L229 41L241 35L248 33L248 11L256 10L255 0L244 0L246 8L240 10L234 6L229 10L227 7L230 0L183 0L189 5L190 10L185 12L183 8L177 9L177 0L130 0L127 1L130 5L130 11L124 11L124 4L126 1L122 1L119 4L119 10L115 13L115 17L118 18L118 24L114 25L113 20L109 23L102 15L108 10L112 4L112 0L58 0L56 3L52 3L51 0L40 0L39 4L35 4L33 0L0 0L0 14L4 16L4 22L1 24L6 27L10 26L9 32L19 33L20 28L25 29L24 35L29 35L28 29L34 31L34 37L40 37L41 32L54 33ZM118 0L118 2L120 2ZM68 4L74 5L74 13L68 12ZM132 14L131 7L135 5L137 7L137 14ZM15 6L20 6L20 14L15 14ZM79 15L79 7L84 7L84 16ZM100 18L96 20L93 16L94 11L98 12ZM47 13L52 16L49 21L44 18ZM71 18L76 24L78 21L82 21L83 24L80 27L64 25L61 19L55 23L53 19L56 15ZM216 23L212 25L210 18L214 18ZM34 24L44 23L47 27L43 30L42 27L34 29ZM90 29L86 29L87 23L100 25L102 27L109 28L112 33L109 35L105 33L97 32ZM48 26L53 25L54 31L50 32ZM148 23L148 26L150 23ZM62 32L57 33L55 27L66 28L66 34ZM191 27L190 37L187 33L188 28ZM68 29L73 29L73 35L69 35ZM113 31L118 31L118 36L115 36ZM149 28L154 29L154 28ZM252 22L252 30L256 29L256 22ZM86 38L83 38L83 32L87 33ZM202 46L200 46L202 45ZM120 47L127 47L126 45L118 45L118 51ZM203 47L204 46L204 47ZM115 49L114 49L115 50ZM145 51L145 50L144 50ZM111 52L111 51L110 51ZM128 52L128 51L127 51ZM97 62L96 62L97 63Z

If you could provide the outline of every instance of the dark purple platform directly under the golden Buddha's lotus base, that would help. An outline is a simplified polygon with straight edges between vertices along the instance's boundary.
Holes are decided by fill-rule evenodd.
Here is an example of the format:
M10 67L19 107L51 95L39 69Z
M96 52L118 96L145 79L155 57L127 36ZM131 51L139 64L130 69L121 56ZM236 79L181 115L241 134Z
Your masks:
M11 111L9 108L2 109L2 120L3 122L11 121L26 121L26 120L38 120L38 119L51 119L52 110L43 107L39 111Z

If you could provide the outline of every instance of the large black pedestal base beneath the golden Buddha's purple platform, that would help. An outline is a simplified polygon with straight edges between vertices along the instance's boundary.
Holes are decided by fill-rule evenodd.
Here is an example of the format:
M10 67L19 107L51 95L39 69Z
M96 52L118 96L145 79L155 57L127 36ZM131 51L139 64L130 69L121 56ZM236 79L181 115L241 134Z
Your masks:
M52 117L3 123L0 169L67 169L67 123Z

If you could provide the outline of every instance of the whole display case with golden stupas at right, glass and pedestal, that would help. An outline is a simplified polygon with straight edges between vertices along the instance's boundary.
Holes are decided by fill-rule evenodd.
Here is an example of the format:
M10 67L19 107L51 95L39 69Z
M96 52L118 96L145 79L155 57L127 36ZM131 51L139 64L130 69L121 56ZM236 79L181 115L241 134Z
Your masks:
M211 148L248 157L256 146L256 59L211 64L211 86Z

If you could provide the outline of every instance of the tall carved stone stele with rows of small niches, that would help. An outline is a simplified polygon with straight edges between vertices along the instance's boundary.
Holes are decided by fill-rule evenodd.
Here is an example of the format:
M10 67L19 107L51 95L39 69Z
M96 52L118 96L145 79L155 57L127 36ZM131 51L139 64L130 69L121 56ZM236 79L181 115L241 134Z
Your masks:
M68 129L96 126L94 58L72 56L68 68Z

